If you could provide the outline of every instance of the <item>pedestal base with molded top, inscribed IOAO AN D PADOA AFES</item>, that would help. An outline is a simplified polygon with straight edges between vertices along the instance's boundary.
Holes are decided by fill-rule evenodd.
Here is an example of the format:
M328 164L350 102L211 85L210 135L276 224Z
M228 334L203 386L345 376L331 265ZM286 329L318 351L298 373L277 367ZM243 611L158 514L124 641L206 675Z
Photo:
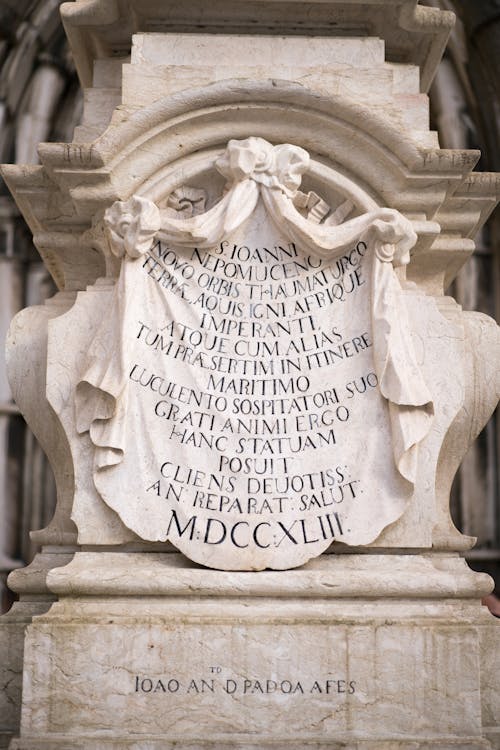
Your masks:
M473 598L487 577L456 556L283 574L78 553L48 585L60 600L27 629L11 750L492 747L481 648L500 630Z

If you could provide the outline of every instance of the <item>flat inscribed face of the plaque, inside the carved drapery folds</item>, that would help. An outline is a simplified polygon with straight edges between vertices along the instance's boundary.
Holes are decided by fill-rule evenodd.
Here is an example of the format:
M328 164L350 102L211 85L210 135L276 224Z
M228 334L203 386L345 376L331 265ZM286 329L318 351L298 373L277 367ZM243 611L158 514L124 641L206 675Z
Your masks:
M304 252L263 207L214 247L157 241L136 262L133 488L116 499L111 470L96 482L130 528L259 569L372 541L397 517L406 488L373 363L371 264L363 241L330 261Z

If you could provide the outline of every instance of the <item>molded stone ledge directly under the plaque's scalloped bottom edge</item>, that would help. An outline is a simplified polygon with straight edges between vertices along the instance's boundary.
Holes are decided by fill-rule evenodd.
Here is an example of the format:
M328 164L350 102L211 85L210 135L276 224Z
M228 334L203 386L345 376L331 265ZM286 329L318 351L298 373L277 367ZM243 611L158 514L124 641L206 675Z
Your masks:
M492 580L458 555L323 555L288 571L206 570L179 553L78 552L47 574L59 596L474 598Z

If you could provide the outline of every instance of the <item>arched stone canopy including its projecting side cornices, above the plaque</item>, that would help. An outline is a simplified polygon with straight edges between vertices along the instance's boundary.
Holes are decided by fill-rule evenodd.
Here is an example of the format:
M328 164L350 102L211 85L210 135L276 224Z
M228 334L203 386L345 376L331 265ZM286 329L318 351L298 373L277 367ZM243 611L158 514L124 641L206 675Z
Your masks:
M200 152L215 153L230 138L285 138L310 151L318 164L355 180L367 200L404 213L419 234L410 269L415 278L424 256L434 250L433 262L449 281L473 249L467 238L493 206L495 185L484 174L471 174L477 152L424 148L368 107L342 97L327 100L289 82L224 81L174 94L121 118L120 109L115 110L108 129L92 144L43 144L42 167L5 168L35 244L60 287L83 288L103 273L95 238L89 245L91 235L84 233L107 205L133 193L164 197L159 180L165 180L168 192L169 184L184 179L185 160L192 165ZM332 153L334 163L326 157ZM457 234L453 196L464 187L469 200L458 202L462 231ZM72 262L69 275L64 257L73 252L81 258L80 269L75 275Z

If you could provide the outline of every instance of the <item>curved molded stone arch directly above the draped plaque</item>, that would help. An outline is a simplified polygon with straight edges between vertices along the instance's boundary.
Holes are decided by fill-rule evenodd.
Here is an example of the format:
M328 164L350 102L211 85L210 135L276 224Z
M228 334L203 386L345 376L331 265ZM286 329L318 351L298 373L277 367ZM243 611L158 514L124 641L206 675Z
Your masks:
M75 206L92 210L111 195L125 199L179 157L249 135L295 143L327 163L336 154L335 166L385 205L391 204L391 192L407 188L413 172L432 170L429 149L412 142L411 133L388 127L368 107L342 97L327 100L289 82L223 81L162 99L120 124L118 116L92 144L64 151L56 144L41 147L42 162L57 181L69 170L83 177L67 175ZM446 157L441 151L440 171L457 172ZM99 172L101 185L107 183L104 192L96 184Z

